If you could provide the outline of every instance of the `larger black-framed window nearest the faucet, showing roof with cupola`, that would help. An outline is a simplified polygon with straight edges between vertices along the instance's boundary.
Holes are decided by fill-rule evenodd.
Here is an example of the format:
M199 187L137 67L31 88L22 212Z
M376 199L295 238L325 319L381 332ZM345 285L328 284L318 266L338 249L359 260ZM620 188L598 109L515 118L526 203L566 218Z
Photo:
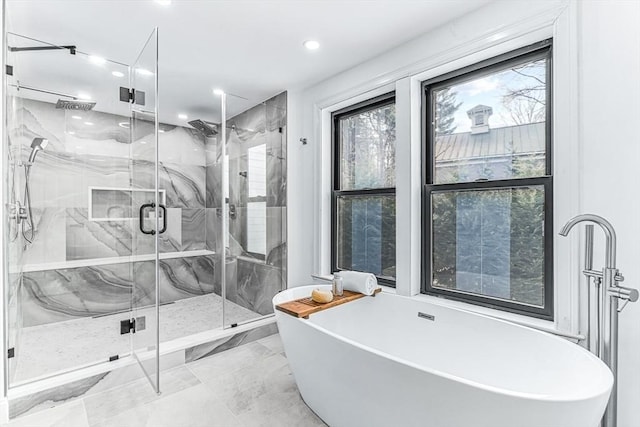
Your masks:
M551 41L423 83L422 292L553 318Z

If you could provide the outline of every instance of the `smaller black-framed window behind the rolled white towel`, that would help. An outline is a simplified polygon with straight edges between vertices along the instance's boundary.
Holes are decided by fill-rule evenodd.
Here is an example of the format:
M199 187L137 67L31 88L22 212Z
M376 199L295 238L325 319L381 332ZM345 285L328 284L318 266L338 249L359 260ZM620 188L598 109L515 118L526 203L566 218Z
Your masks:
M395 286L395 97L333 114L331 268L373 273Z

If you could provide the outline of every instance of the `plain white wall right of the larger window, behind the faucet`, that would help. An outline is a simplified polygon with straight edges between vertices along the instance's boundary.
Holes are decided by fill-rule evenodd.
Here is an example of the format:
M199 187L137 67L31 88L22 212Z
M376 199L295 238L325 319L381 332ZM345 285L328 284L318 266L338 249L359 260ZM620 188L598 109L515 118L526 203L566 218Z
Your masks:
M618 235L623 285L640 287L640 2L579 9L580 135L584 212ZM595 261L594 261L595 264ZM620 315L619 427L640 425L640 303Z

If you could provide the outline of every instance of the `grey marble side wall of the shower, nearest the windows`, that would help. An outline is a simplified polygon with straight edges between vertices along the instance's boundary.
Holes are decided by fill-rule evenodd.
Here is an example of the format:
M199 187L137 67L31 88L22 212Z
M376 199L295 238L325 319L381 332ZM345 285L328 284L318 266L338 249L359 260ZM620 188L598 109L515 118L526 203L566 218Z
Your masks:
M287 93L283 92L227 120L229 156L229 237L226 244L227 299L258 313L273 312L271 298L286 287L286 139ZM249 194L249 150L264 146L264 194ZM207 249L222 253L221 198L222 157L215 142L207 141L206 169ZM255 190L254 190L255 193ZM216 197L217 196L217 197ZM250 197L251 196L251 197ZM249 205L265 206L265 253L250 251L248 242ZM254 205L255 206L255 205ZM255 236L253 236L255 237ZM217 259L220 262L220 259ZM229 280L229 275L235 280Z

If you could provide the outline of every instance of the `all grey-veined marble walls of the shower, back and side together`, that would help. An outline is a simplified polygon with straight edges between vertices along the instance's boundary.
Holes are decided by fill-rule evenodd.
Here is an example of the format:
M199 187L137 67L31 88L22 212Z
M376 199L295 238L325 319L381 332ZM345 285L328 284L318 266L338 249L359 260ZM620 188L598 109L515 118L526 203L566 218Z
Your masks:
M158 180L168 227L158 239L166 255L159 265L160 304L221 295L224 258L227 299L256 317L272 312L271 298L286 287L286 99L285 92L227 121L228 203L235 211L227 239L222 233L225 159L218 137L161 125ZM153 254L154 239L140 233L137 207L153 194L148 190L155 182L155 152L146 141L153 136L151 123L140 121L132 135L127 117L13 101L8 134L16 199L24 187L19 160L26 160L33 138L50 141L31 168L35 239L29 245L19 236L10 242L15 286L9 289L9 336L19 347L23 328L125 313L132 301L154 302L153 261L144 258ZM81 120L73 117L78 114ZM252 198L248 149L261 145L265 191ZM248 206L256 200L265 205L264 254L247 247ZM245 319L223 321L238 320Z

